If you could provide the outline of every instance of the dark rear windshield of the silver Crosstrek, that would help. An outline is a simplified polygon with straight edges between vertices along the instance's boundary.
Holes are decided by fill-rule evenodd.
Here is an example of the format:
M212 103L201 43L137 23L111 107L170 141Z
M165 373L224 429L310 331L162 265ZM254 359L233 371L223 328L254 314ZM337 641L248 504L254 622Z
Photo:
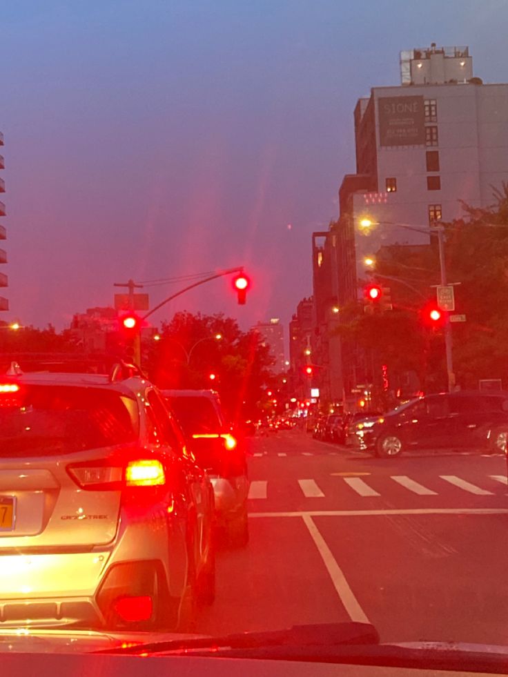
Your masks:
M75 386L21 386L0 406L0 456L66 454L137 439L137 402L119 393Z

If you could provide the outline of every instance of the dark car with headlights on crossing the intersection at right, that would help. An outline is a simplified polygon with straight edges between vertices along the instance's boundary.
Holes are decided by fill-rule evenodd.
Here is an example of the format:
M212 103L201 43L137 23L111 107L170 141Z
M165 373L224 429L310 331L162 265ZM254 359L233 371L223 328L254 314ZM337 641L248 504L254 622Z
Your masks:
M378 456L409 449L506 451L508 393L440 393L409 400L349 429L349 441Z

